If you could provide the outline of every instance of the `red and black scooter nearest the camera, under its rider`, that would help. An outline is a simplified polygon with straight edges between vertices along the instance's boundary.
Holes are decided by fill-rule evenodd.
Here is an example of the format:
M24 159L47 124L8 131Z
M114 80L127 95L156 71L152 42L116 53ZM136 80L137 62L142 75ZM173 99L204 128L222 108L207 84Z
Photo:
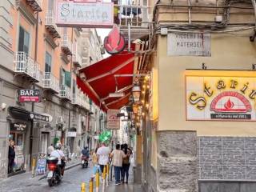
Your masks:
M54 186L55 184L59 184L62 181L61 169L58 166L58 158L50 157L47 158L48 165L48 174L47 174L47 182L49 186Z

